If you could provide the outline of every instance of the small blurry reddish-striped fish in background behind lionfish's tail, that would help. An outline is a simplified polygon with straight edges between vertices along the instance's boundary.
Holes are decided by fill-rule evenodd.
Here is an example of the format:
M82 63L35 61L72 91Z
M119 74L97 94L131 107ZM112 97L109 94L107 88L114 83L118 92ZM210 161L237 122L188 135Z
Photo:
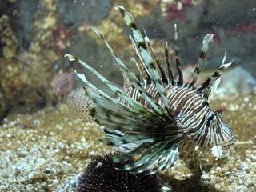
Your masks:
M54 77L50 86L57 101L72 90L74 85L74 72L58 74Z

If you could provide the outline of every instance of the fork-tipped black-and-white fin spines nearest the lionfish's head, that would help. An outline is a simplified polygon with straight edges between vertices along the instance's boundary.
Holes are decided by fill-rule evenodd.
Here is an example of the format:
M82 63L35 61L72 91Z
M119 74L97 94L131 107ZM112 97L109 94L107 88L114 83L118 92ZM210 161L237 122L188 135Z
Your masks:
M206 98L206 100L210 100L210 96L211 94L213 94L212 92L214 92L213 90L216 90L218 87L222 73L226 70L227 67L229 67L232 64L233 60L228 63L225 63L225 62L226 62L226 52L222 60L222 65L218 68L218 70L216 70L214 74L210 76L210 78L207 78L205 82L203 82L201 85L195 88L195 90L200 92L200 94L202 95L206 94L206 96L203 96L204 98Z

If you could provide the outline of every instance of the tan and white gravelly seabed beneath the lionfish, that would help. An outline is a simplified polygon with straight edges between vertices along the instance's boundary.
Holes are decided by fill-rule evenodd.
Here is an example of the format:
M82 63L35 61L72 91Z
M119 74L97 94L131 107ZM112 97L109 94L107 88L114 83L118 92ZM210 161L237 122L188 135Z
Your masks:
M237 141L228 158L202 157L204 173L195 177L183 160L158 174L169 191L256 191L256 98L217 98ZM0 126L0 191L74 191L86 164L112 151L98 139L96 124L74 118L65 104L34 114L11 114Z

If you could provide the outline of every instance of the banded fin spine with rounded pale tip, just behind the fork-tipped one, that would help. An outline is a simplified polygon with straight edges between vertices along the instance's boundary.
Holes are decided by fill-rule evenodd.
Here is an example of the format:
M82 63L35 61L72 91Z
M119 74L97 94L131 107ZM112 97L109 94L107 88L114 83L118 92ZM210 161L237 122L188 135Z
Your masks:
M206 36L203 38L202 41L202 50L200 52L199 58L198 58L198 64L194 69L194 73L192 74L192 77L190 80L186 83L187 87L193 88L195 82L198 80L198 75L200 74L200 70L202 68L202 63L206 58L207 50L210 46L210 43L213 41L214 34L206 34Z

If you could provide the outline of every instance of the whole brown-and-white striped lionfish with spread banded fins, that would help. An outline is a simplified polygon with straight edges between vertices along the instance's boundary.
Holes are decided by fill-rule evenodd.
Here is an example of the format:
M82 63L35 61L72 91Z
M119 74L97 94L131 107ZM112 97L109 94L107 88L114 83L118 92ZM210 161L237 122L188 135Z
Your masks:
M214 35L206 34L194 74L185 83L178 53L176 25L174 42L178 78L174 78L170 67L167 42L166 73L154 53L149 38L142 37L132 15L123 6L117 6L116 10L120 11L126 25L130 27L129 37L137 56L134 63L138 67L139 79L118 58L102 34L92 26L90 29L102 38L122 72L123 90L86 62L71 54L66 54L65 57L82 64L118 96L118 99L110 97L89 82L85 74L74 71L86 84L82 96L86 99L82 104L84 115L90 114L92 118L87 119L94 118L98 125L102 126L106 137L100 141L114 146L120 152L113 157L113 161L126 162L125 166L117 169L154 174L174 166L178 161L179 151L194 154L198 153L198 150L211 149L216 159L220 158L223 149L230 150L230 146L234 145L235 138L230 126L222 122L222 112L212 110L209 103L214 90L218 87L221 74L231 64L225 63L226 54L219 69L205 82L194 86ZM80 96L76 94L75 97L71 102L77 102L81 92ZM134 162L130 162L131 159L134 159Z

